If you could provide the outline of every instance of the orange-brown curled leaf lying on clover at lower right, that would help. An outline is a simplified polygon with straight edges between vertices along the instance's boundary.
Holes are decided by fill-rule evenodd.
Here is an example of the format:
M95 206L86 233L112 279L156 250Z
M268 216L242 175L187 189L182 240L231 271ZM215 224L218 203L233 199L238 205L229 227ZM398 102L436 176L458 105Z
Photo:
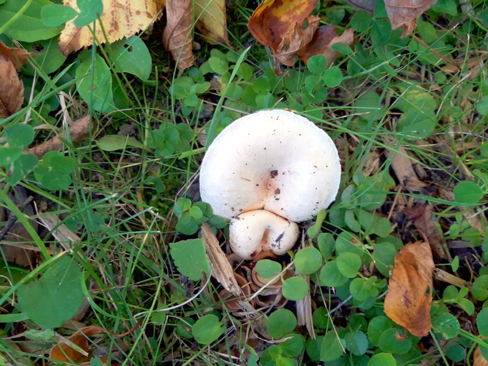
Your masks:
M388 283L385 313L396 324L422 337L428 333L434 261L427 242L405 245L395 256Z

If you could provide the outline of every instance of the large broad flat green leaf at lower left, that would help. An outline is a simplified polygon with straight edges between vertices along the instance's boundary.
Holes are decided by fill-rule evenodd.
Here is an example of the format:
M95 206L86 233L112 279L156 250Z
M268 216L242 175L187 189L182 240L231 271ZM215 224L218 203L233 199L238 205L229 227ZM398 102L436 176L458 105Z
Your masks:
M48 267L39 281L17 291L23 312L43 328L56 328L70 320L83 301L80 266L68 256Z

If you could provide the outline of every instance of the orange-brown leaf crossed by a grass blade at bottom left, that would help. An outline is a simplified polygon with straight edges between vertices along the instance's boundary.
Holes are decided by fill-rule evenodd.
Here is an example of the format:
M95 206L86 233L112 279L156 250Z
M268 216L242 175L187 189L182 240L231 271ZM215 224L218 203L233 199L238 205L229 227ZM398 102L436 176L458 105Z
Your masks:
M71 335L68 339L75 345L79 346L82 350L88 352L88 338L95 334L103 334L105 330L96 325L89 325L82 327L79 331ZM49 351L49 358L62 362L79 362L85 356L83 356L76 349L71 348L64 342L60 342L59 345L53 346Z

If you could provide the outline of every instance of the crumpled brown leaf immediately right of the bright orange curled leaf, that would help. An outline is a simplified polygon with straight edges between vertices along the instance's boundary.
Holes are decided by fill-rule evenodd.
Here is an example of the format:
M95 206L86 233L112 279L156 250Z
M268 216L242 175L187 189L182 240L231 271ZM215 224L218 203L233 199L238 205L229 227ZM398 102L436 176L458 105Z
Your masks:
M320 27L304 48L298 52L300 60L308 61L314 55L324 55L327 59L327 64L330 65L339 56L339 52L332 49L334 43L344 43L348 46L354 42L354 30L352 28L346 29L340 36L337 35L332 25Z

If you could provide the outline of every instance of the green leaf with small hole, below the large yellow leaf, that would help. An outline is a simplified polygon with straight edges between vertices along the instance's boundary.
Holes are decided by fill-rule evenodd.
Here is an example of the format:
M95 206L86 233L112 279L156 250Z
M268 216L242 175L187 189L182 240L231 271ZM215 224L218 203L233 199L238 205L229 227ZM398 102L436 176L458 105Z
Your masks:
M117 72L133 74L141 80L149 79L152 59L146 44L139 37L116 41L106 49L110 50L108 58L115 63Z

